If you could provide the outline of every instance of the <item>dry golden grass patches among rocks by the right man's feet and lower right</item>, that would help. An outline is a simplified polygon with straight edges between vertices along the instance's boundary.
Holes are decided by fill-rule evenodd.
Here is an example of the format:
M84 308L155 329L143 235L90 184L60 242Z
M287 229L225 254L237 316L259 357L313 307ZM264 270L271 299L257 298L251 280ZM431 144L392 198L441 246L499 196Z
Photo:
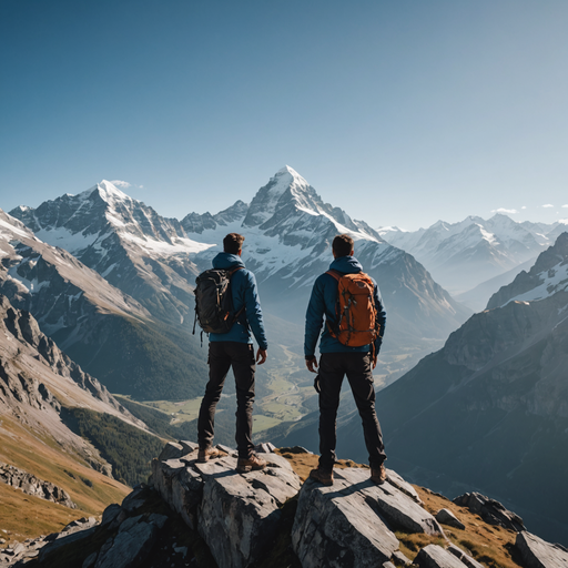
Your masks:
M318 456L314 454L295 454L291 448L276 449L276 453L284 456L291 463L302 481L307 479L312 468L317 467ZM366 468L367 466L342 459L337 467ZM465 525L466 528L464 530L444 526L444 531L452 542L475 558L479 564L488 568L519 568L521 566L514 558L516 532L487 525L478 515L474 515L465 507L458 507L446 497L433 494L423 487L414 487L428 513L436 515L439 509L448 509ZM410 560L414 560L420 548L429 544L443 547L447 545L440 537L424 534L396 531L396 537L400 542L400 551Z

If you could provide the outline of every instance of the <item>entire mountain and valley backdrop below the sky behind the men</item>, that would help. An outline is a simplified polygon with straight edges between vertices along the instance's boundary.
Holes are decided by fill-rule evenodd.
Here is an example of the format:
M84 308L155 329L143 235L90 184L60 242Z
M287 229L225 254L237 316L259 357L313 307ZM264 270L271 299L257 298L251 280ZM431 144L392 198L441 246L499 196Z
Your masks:
M389 467L448 497L475 489L499 498L529 530L568 545L564 227L496 215L377 231L325 203L290 166L248 204L180 220L108 181L0 210L0 462L59 481L81 510L99 514L143 477L151 457L140 448L195 439L207 349L193 333L193 288L230 232L245 236L267 328L256 442L317 450L304 314L333 237L348 233L387 312L375 383ZM479 313L438 280L470 293ZM215 440L226 445L231 383L215 416ZM139 469L124 468L121 453L135 454ZM351 395L338 454L367 459Z

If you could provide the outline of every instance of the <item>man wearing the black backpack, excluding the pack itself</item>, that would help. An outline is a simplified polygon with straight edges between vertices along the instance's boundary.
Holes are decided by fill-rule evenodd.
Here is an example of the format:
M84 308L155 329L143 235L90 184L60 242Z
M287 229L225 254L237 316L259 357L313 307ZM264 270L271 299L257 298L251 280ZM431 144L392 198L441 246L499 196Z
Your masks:
M233 367L236 383L235 439L239 450L236 469L241 473L263 469L266 466L266 462L254 453L252 430L255 363L262 365L266 361L268 347L256 280L241 260L243 242L244 236L230 233L223 239L223 252L213 258L213 268L234 271L231 276L233 311L236 314L243 306L244 310L229 333L211 333L209 336L209 383L197 419L197 460L203 463L220 455L219 450L212 447L215 407L221 398L229 369ZM258 344L256 358L251 329Z

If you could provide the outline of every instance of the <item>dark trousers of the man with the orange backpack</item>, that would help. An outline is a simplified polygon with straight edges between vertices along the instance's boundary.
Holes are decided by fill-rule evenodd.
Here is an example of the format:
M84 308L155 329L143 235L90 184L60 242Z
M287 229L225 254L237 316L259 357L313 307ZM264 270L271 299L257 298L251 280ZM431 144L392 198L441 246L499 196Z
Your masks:
M375 413L375 386L368 353L322 353L320 358L320 467L335 464L336 418L343 377L347 375L363 422L371 467L386 459L383 434Z

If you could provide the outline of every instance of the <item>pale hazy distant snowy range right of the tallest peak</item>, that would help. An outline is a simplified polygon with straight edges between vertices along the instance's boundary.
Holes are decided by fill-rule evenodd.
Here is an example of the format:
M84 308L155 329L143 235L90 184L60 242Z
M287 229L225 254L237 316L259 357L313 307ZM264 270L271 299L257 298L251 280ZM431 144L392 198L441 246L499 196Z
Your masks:
M416 256L444 287L459 294L536 257L552 244L551 231L557 225L517 223L496 214L489 220L469 216L454 224L438 221L414 232L397 227L378 232Z

